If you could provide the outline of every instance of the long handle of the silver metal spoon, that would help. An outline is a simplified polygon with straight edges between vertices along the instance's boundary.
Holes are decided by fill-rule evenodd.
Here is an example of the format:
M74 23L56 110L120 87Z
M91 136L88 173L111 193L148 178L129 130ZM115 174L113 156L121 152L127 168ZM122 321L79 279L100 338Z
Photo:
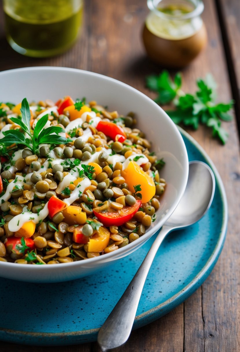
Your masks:
M99 330L97 342L103 352L111 351L127 341L147 274L160 244L171 230L170 226L164 225L162 227L132 281Z

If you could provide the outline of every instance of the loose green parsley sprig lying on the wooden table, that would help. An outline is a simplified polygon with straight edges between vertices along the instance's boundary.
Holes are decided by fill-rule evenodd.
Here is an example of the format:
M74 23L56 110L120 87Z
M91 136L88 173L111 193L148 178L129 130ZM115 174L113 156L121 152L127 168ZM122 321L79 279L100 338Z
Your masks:
M182 78L177 73L173 81L168 71L163 71L158 76L148 76L146 86L158 93L155 101L159 104L167 104L173 101L174 110L166 110L166 113L175 122L191 126L196 130L199 124L212 129L213 137L219 138L222 144L228 139L228 133L221 127L221 121L230 121L232 116L229 110L234 101L228 103L216 103L216 82L212 75L196 81L197 91L194 94L185 94L181 90Z

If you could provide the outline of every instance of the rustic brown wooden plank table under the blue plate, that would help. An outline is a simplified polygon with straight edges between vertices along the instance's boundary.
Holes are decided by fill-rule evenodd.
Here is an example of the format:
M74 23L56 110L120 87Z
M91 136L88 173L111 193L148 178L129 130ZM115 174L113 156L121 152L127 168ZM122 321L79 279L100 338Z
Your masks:
M187 301L163 318L133 331L119 351L230 352L240 351L240 3L239 0L205 0L204 21L208 46L183 70L184 89L211 72L219 85L219 100L235 99L232 122L223 124L230 134L225 146L206 128L188 130L206 150L222 177L229 206L228 233L220 258L208 279ZM145 76L160 68L145 56L140 40L148 13L146 0L89 0L78 43L66 54L31 59L15 53L4 38L0 11L0 70L50 65L74 67L114 77L153 98L144 86ZM1 84L1 82L0 82ZM17 317L16 317L17 319ZM43 347L0 343L2 352L40 352ZM100 351L96 342L78 346L45 347L44 351Z

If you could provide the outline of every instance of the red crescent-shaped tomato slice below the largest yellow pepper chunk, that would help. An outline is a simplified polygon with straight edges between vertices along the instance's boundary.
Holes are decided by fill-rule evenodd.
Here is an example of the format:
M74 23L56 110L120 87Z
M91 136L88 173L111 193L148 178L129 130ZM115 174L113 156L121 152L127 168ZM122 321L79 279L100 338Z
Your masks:
M140 208L140 205L141 201L137 200L134 205L123 207L122 209L117 211L114 211L112 208L109 208L106 212L98 212L97 208L94 208L93 212L97 219L101 221L104 226L120 226L133 218L133 216L137 213L138 209Z

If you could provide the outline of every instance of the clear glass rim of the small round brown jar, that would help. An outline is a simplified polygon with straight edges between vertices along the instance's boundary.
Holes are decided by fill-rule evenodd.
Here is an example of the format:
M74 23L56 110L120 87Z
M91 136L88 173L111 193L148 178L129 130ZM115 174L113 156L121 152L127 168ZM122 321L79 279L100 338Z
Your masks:
M194 17L197 17L201 15L201 13L204 10L204 4L202 0L187 0L191 5L194 5L194 9L188 13L185 13L179 16L174 16L170 14L166 14L164 12L161 12L158 10L158 5L162 2L163 0L147 0L147 7L149 10L153 11L158 17L169 19L169 20L187 20L191 19Z

